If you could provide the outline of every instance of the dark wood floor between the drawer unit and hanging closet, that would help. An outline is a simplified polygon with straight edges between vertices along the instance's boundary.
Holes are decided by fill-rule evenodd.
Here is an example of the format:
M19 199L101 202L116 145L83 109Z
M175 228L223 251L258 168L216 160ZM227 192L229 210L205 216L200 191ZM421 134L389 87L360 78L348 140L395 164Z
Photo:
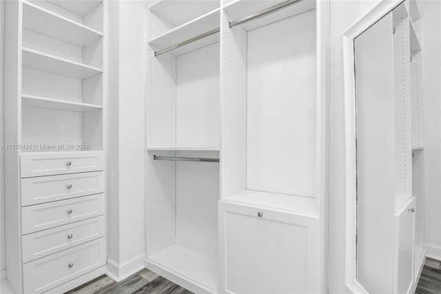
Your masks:
M127 279L116 283L107 275L101 275L95 280L74 288L65 294L191 294L182 288L161 277L160 275L143 269Z

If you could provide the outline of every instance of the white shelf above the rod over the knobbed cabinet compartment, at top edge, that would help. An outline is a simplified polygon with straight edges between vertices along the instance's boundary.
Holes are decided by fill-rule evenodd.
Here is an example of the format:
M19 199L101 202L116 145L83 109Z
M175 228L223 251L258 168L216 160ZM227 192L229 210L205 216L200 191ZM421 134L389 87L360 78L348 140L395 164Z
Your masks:
M256 12L260 12L261 10L265 10L271 6L275 6L285 1L286 0L235 0L227 3L224 10L227 12L227 15L229 15L229 21L237 21L238 19L248 17L249 15L255 14ZM264 17L256 18L247 23L243 23L240 25L240 27L247 31L254 30L255 28L260 28L263 25L274 23L275 21L280 21L282 19L286 19L287 17L292 17L315 8L316 0L303 0L276 12L267 14Z

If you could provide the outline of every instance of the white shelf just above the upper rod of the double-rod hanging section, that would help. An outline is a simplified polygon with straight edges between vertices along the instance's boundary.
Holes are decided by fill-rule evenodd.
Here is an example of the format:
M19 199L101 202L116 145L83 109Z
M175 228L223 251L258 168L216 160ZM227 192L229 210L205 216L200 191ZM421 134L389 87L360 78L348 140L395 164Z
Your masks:
M207 14L194 19L193 21L189 21L170 32L162 34L148 43L154 46L155 51L163 50L165 48L169 48L172 45L176 45L183 41L187 41L189 39L194 38L195 36L199 36L216 28L219 28L219 18L220 18L220 8L208 12ZM189 43L181 48L170 51L170 54L181 55L198 48L203 48L207 45L211 45L219 41L220 34L212 34L211 36L207 36L203 39L195 41L194 43Z

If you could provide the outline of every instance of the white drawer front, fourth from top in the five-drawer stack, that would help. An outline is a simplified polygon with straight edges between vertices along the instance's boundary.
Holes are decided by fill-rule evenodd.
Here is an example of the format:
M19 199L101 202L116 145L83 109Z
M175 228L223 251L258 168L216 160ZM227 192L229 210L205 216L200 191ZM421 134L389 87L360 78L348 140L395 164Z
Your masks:
M23 235L21 238L23 263L102 238L104 235L104 216Z

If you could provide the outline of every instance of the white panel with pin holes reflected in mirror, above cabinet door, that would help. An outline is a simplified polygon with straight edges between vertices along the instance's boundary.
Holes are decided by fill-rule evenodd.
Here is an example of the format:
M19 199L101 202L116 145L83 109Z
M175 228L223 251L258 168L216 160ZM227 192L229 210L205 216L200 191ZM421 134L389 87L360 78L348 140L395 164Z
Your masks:
M395 20L393 27L395 28L395 34L393 34L393 61L395 66L396 97L396 193L410 195L412 193L412 120L410 79L411 55L409 50L408 17L400 17Z

